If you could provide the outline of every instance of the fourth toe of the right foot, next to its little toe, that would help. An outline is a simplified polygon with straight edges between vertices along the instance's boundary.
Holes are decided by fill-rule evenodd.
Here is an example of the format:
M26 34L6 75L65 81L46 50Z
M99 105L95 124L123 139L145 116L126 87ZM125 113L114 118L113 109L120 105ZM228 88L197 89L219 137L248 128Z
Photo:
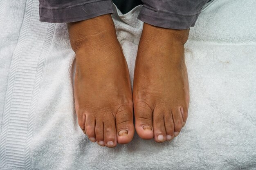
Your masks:
M177 135L179 135L182 128L182 124L183 124L180 107L173 108L172 116L173 116L173 124L174 124L174 136L176 137Z

